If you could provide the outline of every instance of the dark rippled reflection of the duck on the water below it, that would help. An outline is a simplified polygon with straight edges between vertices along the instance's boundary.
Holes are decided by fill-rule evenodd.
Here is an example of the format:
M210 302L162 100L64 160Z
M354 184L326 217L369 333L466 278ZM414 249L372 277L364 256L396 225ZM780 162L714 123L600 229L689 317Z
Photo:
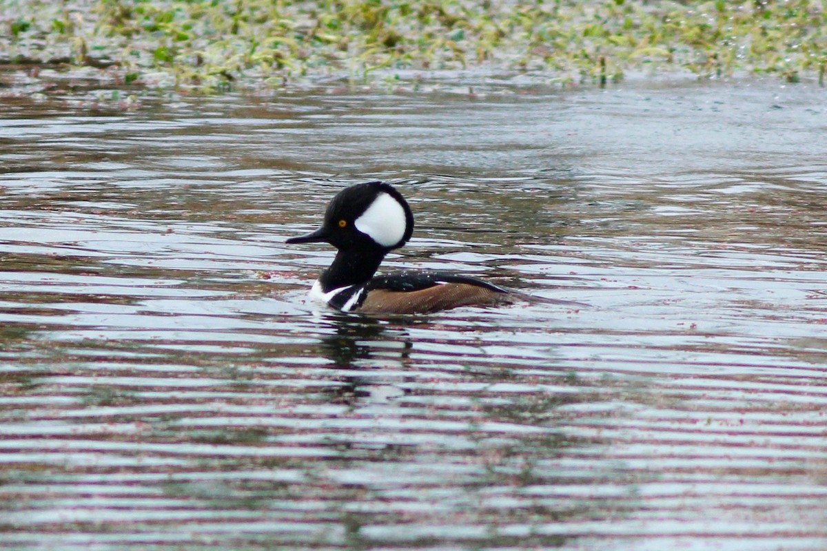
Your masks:
M334 330L321 337L319 349L330 367L341 371L344 383L327 391L332 401L355 405L404 394L394 386L399 371L409 367L414 347L404 325L338 313L326 318Z

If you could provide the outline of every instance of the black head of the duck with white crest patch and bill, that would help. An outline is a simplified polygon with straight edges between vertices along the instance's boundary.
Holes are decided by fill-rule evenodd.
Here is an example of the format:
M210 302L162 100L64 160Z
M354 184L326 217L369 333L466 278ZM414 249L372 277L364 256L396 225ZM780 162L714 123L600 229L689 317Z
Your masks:
M329 243L337 249L379 248L385 252L404 245L414 232L408 202L389 183L358 183L333 197L322 227L287 243Z

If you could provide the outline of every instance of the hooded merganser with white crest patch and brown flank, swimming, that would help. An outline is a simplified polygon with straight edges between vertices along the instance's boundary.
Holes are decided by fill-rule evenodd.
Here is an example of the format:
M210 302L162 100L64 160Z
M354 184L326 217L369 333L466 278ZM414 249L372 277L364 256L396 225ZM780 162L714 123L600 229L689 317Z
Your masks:
M418 314L514 302L513 292L464 275L419 270L375 275L385 254L413 232L414 214L404 197L388 183L369 182L338 192L322 227L286 242L324 242L338 249L310 290L310 297L337 310Z

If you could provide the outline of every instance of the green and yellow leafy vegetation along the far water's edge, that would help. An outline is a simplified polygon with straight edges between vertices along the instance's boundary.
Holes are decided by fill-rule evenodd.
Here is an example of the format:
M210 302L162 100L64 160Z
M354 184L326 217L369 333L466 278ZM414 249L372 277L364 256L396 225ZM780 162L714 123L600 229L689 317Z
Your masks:
M0 0L2 71L87 68L203 93L412 74L774 74L825 82L814 0Z

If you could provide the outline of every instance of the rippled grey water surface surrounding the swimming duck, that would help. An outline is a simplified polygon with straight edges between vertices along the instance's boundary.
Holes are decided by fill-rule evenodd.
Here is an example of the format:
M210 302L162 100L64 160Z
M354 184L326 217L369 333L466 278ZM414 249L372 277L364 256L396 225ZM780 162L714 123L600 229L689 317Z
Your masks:
M3 546L827 549L822 89L93 98L2 107ZM314 311L371 179L591 306Z

